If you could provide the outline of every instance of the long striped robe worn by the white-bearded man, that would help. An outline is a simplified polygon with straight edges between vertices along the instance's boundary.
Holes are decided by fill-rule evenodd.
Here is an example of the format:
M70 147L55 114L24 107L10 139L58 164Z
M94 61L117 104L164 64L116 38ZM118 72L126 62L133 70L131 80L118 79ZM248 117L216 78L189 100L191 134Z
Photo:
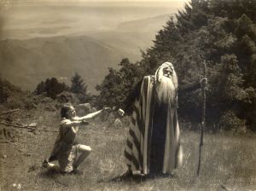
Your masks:
M172 173L182 162L177 104L168 104L162 110L156 101L154 84L154 76L143 78L131 116L131 126L125 145L125 160L133 172L154 173L154 165L160 164L159 172ZM160 113L166 114L163 117ZM159 128L161 131L164 130L164 133L160 132L160 137L154 135ZM153 159L161 161L154 162Z

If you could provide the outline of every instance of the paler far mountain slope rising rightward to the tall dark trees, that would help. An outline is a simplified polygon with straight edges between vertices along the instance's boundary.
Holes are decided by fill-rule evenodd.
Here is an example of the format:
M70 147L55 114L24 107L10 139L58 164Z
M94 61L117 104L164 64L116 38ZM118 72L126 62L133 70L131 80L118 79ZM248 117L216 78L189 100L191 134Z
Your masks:
M111 44L131 61L138 61L141 57L140 50L148 49L153 45L155 34L166 25L170 16L172 14L125 21L111 31L91 32L87 35L103 43Z

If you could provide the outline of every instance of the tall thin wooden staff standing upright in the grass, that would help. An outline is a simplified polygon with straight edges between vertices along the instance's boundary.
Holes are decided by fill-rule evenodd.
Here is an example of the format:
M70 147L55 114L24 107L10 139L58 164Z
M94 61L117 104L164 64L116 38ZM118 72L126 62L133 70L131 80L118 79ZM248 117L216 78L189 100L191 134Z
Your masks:
M204 78L207 78L207 63L206 61L203 61L203 74ZM200 170L201 170L201 152L203 147L203 136L204 136L204 129L206 124L206 107L207 107L207 92L206 92L206 85L204 85L202 88L202 96L203 96L203 102L202 102L202 108L201 108L201 138L200 138L200 144L199 144L199 156L198 156L198 167L196 172L196 177L199 177Z

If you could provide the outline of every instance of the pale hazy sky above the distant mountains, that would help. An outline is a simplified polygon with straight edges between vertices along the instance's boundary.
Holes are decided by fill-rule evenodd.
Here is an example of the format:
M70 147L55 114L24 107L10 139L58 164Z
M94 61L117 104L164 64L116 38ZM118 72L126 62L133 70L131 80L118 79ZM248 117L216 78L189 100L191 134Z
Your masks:
M35 38L110 30L183 9L188 0L0 0L3 38ZM3 9L2 9L3 10Z

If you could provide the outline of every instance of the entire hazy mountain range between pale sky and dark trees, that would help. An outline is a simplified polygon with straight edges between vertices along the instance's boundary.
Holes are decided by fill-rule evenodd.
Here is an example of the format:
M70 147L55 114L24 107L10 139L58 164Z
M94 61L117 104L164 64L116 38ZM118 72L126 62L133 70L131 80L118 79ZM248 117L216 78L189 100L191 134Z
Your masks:
M23 90L34 90L45 78L69 83L74 72L93 93L108 73L127 57L135 62L149 48L170 14L124 22L113 30L0 41L0 75ZM47 31L47 29L45 29Z

